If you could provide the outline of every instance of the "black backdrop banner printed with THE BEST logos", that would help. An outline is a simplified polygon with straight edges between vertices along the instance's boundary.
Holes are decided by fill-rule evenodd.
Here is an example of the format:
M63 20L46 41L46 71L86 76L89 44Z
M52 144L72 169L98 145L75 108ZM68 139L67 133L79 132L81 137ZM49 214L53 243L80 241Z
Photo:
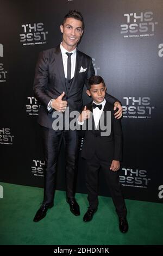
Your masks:
M60 44L60 24L79 10L85 32L78 48L92 57L108 93L124 109L120 182L125 198L163 202L163 1L0 0L0 180L43 187L43 152L33 81L40 51ZM90 101L83 90L84 103ZM86 193L79 159L77 192ZM109 196L103 176L99 193ZM57 188L65 190L64 144ZM27 195L28 196L28 195Z

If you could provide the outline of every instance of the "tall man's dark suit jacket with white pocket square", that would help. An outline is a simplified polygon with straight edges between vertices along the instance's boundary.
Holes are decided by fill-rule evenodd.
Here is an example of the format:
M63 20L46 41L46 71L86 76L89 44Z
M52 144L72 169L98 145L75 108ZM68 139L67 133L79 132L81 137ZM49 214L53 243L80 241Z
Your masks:
M80 68L86 69L85 72L79 72ZM62 100L66 100L70 111L81 111L83 106L82 92L87 79L95 75L91 57L77 50L76 70L71 86L66 86L64 66L62 63L62 54L60 46L42 51L37 61L34 95L41 103L39 109L38 123L42 126L52 129L52 112L49 113L47 105L51 99L57 99L65 92ZM111 103L117 99L108 95Z

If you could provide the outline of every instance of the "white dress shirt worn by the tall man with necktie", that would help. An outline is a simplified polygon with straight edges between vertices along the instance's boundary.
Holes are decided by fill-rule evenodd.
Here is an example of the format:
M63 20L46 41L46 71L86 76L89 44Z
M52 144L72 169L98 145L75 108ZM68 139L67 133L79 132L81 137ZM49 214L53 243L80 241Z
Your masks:
M66 54L66 52L68 52L63 46L62 46L62 42L60 44L60 50L61 50L61 54L62 54L62 62L64 65L64 73L65 73L65 78L67 78L67 59L68 56ZM72 53L71 55L71 79L74 77L74 72L76 70L76 57L77 57L77 48L75 48L73 51L69 52ZM54 100L54 99L52 99ZM48 111L51 109L51 101L49 101L48 103Z

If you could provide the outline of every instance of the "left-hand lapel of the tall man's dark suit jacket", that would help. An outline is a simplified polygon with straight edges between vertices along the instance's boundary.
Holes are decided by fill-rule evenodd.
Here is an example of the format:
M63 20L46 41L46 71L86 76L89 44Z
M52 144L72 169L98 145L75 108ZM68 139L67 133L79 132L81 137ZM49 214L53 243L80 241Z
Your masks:
M61 50L60 50L60 45L56 47L56 51L55 51L55 62L56 62L56 66L58 69L58 74L60 76L60 81L65 89L65 93L66 95L68 94L67 92L67 87L66 87L66 83L65 83L65 72L64 72L64 65L63 65L63 60L62 60L62 54L61 54Z

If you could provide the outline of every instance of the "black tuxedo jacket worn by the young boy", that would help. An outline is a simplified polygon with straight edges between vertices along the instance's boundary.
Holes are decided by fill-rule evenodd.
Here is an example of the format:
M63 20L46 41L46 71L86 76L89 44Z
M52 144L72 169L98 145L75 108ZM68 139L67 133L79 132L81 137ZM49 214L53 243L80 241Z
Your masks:
M92 112L92 102L86 105L86 108ZM106 120L106 111L111 112L111 120ZM109 136L101 136L101 132L104 132L100 129L97 131L95 129L95 123L93 120L93 130L84 131L84 141L82 147L82 157L85 159L92 159L92 157L96 154L99 159L105 161L112 160L122 160L122 127L121 120L115 119L114 113L115 111L112 108L112 105L106 101L104 109L104 119L101 121L104 122L106 126L106 121L111 121L111 133ZM85 120L88 122L88 119ZM100 122L99 122L100 124ZM98 125L99 125L98 124ZM80 127L82 129L82 127ZM82 131L83 133L83 131Z

